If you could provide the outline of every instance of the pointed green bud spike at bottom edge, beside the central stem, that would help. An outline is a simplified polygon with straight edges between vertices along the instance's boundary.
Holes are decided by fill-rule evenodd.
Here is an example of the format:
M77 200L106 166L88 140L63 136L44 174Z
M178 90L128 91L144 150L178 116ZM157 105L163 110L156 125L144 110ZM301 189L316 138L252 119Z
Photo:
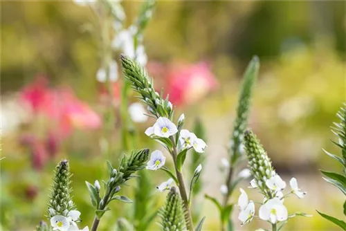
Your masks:
M161 227L163 231L182 231L185 230L185 212L183 211L183 203L176 192L176 188L172 187L167 195L165 206L159 212L161 216Z

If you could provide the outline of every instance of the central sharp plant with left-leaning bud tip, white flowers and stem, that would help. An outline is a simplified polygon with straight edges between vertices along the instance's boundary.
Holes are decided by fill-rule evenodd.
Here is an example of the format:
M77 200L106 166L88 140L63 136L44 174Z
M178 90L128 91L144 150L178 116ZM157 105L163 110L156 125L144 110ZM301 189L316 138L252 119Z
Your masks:
M177 124L172 122L174 119L172 103L169 101L168 97L165 99L163 98L163 93L160 94L154 90L153 81L149 80L147 73L141 66L125 55L121 55L120 59L122 61L122 71L125 74L125 79L129 84L131 84L134 91L139 93L140 100L147 104L147 109L149 111L149 114L147 115L156 120L153 126L149 127L145 131L145 134L149 136L149 138L160 142L170 154L174 163L174 172L171 172L170 169L164 166L165 156L163 153L156 150L152 152L150 160L147 163L147 169L162 169L171 177L170 180L158 187L159 190L169 188L168 185L173 182L175 182L179 187L179 194L186 212L186 228L192 231L194 230L194 225L190 209L191 192L194 184L199 178L201 166L197 167L194 171L194 176L192 176L192 180L190 181L189 190L189 188L185 186L183 164L190 149L202 153L204 149L206 149L206 142L197 138L194 133L187 129L183 129L183 124L185 122L185 117L183 115L181 115Z

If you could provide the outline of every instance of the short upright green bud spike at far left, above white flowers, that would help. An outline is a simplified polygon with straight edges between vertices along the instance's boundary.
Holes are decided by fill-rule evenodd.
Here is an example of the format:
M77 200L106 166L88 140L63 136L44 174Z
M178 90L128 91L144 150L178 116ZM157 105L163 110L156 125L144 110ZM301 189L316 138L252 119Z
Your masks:
M72 201L70 193L71 176L69 161L62 160L55 167L51 197L48 203L48 218L56 214L64 214L66 211L75 210L75 204Z

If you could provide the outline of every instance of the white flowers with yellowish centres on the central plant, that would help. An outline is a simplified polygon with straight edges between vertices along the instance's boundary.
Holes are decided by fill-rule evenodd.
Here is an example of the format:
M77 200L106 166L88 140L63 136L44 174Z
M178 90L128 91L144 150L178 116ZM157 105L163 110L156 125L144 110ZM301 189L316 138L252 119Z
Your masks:
M180 116L178 120L178 126L183 123L183 120L185 119L184 114ZM154 125L152 127L147 128L145 131L145 134L153 139L160 139L160 138L170 138L171 136L176 135L176 133L179 132L178 127L176 127L176 124L174 124L172 121L170 121L168 118L160 117L156 120ZM187 129L181 129L179 133L179 143L178 143L178 151L179 153L183 151L184 149L194 149L194 151L198 153L203 153L206 149L207 145L206 142L204 142L202 139L197 138L197 136L193 133L188 131ZM156 171L157 169L160 169L165 165L165 156L163 156L163 153L159 150L153 151L149 161L147 162L147 169ZM199 165L195 173L198 174L201 172L202 166ZM157 187L158 190L163 192L164 190L169 190L169 185L173 183L173 179L170 178L168 181L165 181L161 183Z

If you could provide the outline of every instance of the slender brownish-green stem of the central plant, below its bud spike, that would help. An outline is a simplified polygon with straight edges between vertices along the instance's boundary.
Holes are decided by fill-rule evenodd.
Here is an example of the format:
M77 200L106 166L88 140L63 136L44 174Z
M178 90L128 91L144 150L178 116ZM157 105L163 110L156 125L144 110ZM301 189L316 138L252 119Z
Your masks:
M180 172L176 166L176 156L178 156L178 152L176 151L176 145L174 142L174 138L170 137L170 140L172 141L172 144L173 144L173 150L172 150L171 154L172 154L173 161L174 161L176 178L178 179L178 182L179 182L179 185L178 185L179 186L179 192L180 192L181 199L183 200L183 205L184 205L185 211L186 211L186 214L185 214L186 227L188 228L188 230L194 231L194 226L193 226L193 222L192 222L192 215L191 215L190 205L189 205L189 201L188 201L188 194L186 193L186 187L185 187L185 183L184 183L183 173Z

